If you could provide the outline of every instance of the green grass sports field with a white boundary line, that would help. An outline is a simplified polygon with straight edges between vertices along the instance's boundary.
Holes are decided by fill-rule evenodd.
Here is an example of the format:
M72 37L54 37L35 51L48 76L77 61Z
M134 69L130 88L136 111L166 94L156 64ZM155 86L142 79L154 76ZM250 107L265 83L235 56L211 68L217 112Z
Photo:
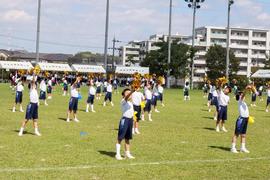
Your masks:
M102 101L96 101L97 113L85 113L84 87L80 123L66 123L69 98L62 97L58 88L49 106L39 108L42 136L34 136L29 123L27 133L18 137L25 113L11 112L14 92L2 84L0 179L270 179L270 114L264 111L265 100L250 108L256 118L248 128L251 153L232 154L236 101L231 98L229 132L216 133L202 92L191 92L190 102L184 102L182 94L182 90L165 91L166 107L159 106L161 113L153 113L153 122L141 122L142 134L131 142L136 159L116 161L120 94L113 97L115 107L103 108ZM28 101L25 91L24 108Z

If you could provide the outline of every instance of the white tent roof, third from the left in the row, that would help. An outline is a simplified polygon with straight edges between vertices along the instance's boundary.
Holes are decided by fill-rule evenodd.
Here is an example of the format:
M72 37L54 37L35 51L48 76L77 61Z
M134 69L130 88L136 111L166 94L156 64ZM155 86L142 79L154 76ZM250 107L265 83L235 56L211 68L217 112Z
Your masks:
M80 73L106 73L102 66L73 64L71 68Z

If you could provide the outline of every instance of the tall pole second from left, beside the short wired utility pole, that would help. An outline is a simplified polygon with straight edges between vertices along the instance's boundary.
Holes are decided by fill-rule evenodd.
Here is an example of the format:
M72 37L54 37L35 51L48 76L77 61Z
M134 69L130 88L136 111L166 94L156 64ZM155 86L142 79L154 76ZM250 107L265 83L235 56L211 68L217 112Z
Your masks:
M109 12L110 11L110 0L107 0L106 6L106 24L105 24L105 45L104 45L104 69L107 74L108 70L108 34L109 34Z

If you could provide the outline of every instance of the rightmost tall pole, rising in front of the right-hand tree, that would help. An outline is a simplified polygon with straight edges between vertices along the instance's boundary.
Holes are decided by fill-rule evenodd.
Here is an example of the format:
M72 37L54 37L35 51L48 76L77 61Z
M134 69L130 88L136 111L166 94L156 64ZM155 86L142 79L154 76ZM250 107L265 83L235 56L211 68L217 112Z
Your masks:
M234 0L228 0L228 20L227 20L227 43L226 43L226 78L229 79L229 68L230 68L230 17L231 17L231 5L234 3Z

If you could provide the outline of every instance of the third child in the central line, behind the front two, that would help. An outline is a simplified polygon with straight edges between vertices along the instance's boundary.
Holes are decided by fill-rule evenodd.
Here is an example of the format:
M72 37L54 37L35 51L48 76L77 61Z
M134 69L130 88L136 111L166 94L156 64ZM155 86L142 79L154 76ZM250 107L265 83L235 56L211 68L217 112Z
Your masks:
M152 91L151 91L151 85L149 83L146 84L146 87L144 89L144 97L146 100L145 107L143 109L143 114L142 114L142 121L144 121L144 115L147 112L148 113L148 120L152 120L152 110L151 110L151 100L152 100Z

